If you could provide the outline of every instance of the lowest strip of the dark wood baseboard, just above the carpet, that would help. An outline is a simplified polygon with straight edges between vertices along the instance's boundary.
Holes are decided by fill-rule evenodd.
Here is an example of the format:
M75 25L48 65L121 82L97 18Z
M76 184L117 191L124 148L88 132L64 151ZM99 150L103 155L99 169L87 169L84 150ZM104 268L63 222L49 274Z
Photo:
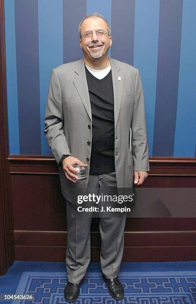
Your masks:
M15 246L17 261L65 262L66 247ZM195 261L195 246L124 247L123 262ZM100 261L100 248L91 247L91 262Z

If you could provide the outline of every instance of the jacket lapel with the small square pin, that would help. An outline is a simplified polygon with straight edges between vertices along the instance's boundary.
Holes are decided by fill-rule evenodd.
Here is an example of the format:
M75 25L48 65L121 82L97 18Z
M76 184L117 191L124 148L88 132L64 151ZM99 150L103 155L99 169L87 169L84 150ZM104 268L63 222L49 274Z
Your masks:
M109 59L112 70L112 82L113 82L113 91L114 91L114 121L116 128L119 117L120 106L121 106L121 98L123 93L124 75L117 61L113 60L112 58Z

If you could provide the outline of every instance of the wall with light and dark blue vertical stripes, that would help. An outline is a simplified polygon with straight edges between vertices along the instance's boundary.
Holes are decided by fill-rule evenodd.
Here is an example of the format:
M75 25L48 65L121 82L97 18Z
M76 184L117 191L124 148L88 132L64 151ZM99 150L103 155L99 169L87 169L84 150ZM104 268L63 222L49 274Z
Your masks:
M112 25L112 58L139 69L151 156L196 156L196 0L4 0L10 154L51 155L53 68L82 56L81 18Z

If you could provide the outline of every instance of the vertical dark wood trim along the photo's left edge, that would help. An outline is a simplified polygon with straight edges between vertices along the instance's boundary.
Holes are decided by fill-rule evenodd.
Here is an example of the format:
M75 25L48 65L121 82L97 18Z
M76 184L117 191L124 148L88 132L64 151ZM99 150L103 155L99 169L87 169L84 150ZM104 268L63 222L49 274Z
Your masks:
M13 225L7 156L8 127L6 103L4 7L0 0L0 275L13 264Z

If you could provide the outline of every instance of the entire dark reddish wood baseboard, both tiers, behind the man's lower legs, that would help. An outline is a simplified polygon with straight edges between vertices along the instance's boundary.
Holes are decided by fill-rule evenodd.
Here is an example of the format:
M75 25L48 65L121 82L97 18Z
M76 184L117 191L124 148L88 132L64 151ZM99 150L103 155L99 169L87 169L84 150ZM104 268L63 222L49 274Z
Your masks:
M66 232L15 231L17 260L65 261ZM99 261L100 236L91 233L91 261ZM125 232L124 262L196 259L196 231Z

